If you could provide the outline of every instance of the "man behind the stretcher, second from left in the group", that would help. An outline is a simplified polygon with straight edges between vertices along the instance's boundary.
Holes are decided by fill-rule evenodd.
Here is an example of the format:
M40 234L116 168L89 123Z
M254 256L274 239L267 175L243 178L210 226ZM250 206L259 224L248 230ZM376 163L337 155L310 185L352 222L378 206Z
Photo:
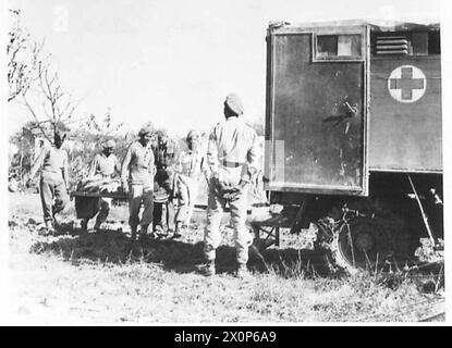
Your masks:
M114 140L110 139L103 142L102 152L97 153L93 159L93 162L89 167L88 178L93 179L109 179L114 177L115 174L120 175L121 164L113 153L115 147ZM96 204L100 208L99 213L96 217L96 223L94 229L96 232L100 231L100 225L107 220L111 207L111 198L100 197L99 201ZM96 213L96 212L94 212ZM93 217L86 216L82 220L82 229L86 231L88 228L88 221Z

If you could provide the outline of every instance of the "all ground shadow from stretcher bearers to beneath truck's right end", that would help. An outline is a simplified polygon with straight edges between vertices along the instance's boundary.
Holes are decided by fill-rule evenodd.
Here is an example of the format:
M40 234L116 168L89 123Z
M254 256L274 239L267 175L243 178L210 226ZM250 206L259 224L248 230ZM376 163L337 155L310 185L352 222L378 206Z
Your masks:
M175 239L144 239L131 241L122 232L109 231L99 234L64 234L52 240L38 241L30 248L35 253L52 253L74 265L93 262L112 264L160 264L166 271L199 273L204 262L203 243L186 243ZM249 251L248 269L255 274L274 274L285 278L341 277L332 272L325 252L295 248L269 248ZM217 249L217 273L232 274L236 269L235 248L221 246ZM364 276L364 275L363 275ZM388 273L366 273L377 284L396 289L407 279L416 284L422 293L437 293L444 286L443 263L430 263L418 270Z

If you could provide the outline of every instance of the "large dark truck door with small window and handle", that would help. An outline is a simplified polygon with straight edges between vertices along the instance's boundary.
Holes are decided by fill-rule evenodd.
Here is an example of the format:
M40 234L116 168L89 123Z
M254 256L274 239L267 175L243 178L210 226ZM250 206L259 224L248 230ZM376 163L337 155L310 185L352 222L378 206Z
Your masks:
M266 188L366 196L368 27L270 27Z

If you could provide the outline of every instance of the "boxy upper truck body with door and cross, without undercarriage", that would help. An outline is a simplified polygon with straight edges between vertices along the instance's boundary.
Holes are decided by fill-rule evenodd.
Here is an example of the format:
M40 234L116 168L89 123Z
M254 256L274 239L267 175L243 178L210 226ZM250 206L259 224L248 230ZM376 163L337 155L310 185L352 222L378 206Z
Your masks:
M439 25L270 25L266 188L367 196L370 172L441 173Z

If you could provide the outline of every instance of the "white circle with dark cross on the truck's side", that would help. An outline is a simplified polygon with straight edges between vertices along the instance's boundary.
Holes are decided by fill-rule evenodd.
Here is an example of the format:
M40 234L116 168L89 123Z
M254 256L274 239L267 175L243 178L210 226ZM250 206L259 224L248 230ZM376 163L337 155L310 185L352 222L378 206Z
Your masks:
M400 102L415 102L426 90L427 79L423 71L414 65L395 67L388 78L388 90Z

